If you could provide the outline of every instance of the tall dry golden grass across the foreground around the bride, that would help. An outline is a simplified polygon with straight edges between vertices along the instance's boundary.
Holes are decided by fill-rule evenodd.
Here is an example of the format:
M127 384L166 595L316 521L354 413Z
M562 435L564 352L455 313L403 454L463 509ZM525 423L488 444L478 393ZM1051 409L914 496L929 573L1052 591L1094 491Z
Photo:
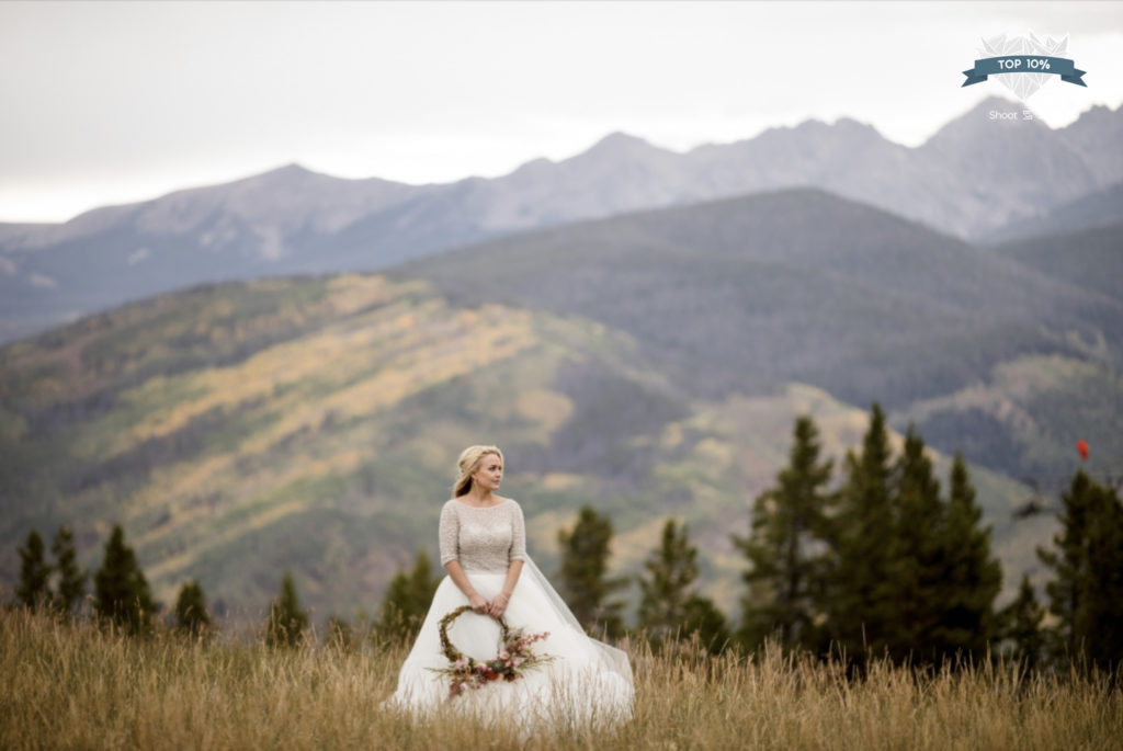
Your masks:
M136 640L0 613L3 749L1119 749L1123 697L1103 677L1016 667L932 676L638 651L634 720L520 736L380 707L402 649L270 650ZM483 690L486 690L483 689Z

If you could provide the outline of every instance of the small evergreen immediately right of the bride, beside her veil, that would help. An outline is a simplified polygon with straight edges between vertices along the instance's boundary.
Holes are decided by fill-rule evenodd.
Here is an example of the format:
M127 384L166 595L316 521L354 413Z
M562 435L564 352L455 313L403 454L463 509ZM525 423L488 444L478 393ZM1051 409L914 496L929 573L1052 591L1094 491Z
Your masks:
M558 531L558 583L562 597L586 631L619 636L623 633L623 603L610 602L609 597L628 581L606 576L611 540L612 522L593 507L583 506L573 531Z

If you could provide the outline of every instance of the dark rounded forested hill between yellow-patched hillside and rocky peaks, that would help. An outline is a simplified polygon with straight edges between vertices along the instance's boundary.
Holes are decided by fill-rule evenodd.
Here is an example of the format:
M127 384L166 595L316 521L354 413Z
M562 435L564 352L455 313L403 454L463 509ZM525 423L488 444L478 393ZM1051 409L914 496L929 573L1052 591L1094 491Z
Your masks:
M628 331L692 394L800 381L904 406L1014 357L1123 342L1123 303L813 190L615 217L393 272Z

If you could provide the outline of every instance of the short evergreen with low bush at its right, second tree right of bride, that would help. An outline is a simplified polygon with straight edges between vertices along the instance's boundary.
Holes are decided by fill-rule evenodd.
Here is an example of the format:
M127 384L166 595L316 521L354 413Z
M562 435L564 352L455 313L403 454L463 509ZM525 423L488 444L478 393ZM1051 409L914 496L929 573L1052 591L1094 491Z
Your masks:
M724 616L709 598L700 595L697 548L690 543L686 524L668 519L659 548L643 565L647 577L639 578L639 629L656 645L666 645L696 633L706 649L721 652L729 641Z

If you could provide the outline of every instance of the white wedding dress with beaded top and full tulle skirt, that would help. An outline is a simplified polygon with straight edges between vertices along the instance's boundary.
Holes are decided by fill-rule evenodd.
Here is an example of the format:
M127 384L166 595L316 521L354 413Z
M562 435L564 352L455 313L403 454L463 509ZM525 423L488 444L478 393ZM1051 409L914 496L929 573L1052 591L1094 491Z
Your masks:
M508 604L504 620L527 634L548 632L536 642L538 654L550 662L526 670L513 681L495 680L450 696L447 676L433 669L449 667L441 652L440 620L468 604L468 598L445 577L402 665L398 690L387 699L396 709L424 714L465 712L484 721L539 725L605 725L631 717L633 685L628 656L590 639L573 613L526 553L526 530L519 504L505 500L495 506L475 507L449 501L441 510L441 564L457 559L484 599L497 595L511 560L523 569ZM496 657L499 624L486 615L467 612L448 628L453 645L477 661Z

